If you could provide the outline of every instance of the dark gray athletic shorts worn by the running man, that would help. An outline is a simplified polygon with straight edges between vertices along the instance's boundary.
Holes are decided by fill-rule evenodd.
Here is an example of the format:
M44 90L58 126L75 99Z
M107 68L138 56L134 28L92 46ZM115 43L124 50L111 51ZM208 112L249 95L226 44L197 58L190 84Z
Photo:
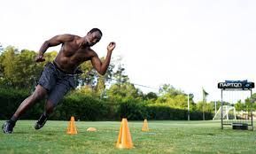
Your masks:
M48 63L38 84L48 91L48 100L56 106L70 89L75 88L74 75L63 72L54 63Z

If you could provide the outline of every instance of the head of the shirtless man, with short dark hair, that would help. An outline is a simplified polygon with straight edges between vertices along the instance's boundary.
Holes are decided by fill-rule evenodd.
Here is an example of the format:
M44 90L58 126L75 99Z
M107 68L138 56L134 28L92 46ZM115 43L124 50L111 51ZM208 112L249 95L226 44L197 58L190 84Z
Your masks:
M87 42L87 45L93 46L94 44L100 41L101 37L101 30L99 30L98 28L92 28L85 36L85 40Z

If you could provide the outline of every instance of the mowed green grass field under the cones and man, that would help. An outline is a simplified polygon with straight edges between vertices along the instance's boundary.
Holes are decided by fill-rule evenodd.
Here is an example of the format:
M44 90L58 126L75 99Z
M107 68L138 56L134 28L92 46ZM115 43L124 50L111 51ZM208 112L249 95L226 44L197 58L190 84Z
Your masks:
M0 121L2 124L4 121ZM66 135L68 121L48 121L41 130L34 120L19 120L12 135L0 133L0 153L256 153L256 132L221 130L220 121L129 121L135 148L115 148L120 121L76 121L77 135ZM97 132L87 132L96 127Z

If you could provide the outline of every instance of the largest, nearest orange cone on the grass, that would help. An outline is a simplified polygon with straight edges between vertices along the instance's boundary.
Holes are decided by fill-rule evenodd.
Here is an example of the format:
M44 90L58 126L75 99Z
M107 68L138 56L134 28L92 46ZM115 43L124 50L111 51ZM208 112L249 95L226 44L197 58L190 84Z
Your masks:
M122 119L120 124L120 132L118 135L118 141L116 147L119 149L131 149L133 148L133 142L128 128L128 120Z

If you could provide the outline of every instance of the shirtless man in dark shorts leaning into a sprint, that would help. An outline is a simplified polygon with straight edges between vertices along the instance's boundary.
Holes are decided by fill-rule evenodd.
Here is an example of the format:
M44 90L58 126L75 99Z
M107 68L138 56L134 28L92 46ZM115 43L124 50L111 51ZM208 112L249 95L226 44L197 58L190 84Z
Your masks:
M59 44L62 44L62 46L55 60L45 65L34 93L19 105L19 108L12 115L11 119L4 122L2 127L4 133L12 134L13 127L19 117L29 107L42 100L45 96L48 96L45 102L44 112L35 123L35 129L43 127L60 99L70 89L75 88L74 74L81 63L90 60L97 72L104 75L110 63L115 42L110 42L107 46L107 55L105 61L102 62L98 58L97 53L90 49L91 46L100 41L101 37L102 32L98 28L93 28L84 37L78 35L56 35L50 40L43 42L38 57L35 60L36 62L43 62L45 60L43 54L49 47Z

